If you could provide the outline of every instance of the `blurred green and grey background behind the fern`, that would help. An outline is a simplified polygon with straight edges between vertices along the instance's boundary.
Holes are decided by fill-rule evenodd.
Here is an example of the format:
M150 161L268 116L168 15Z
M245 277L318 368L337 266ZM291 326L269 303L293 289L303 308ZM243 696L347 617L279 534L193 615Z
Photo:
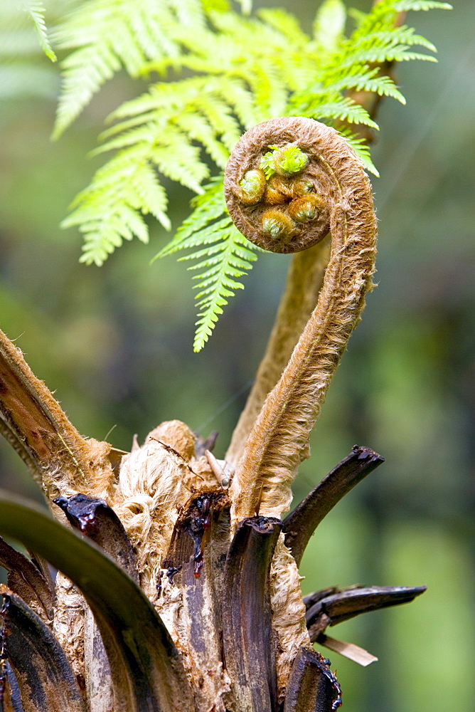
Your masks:
M0 0L0 21L10 0ZM310 27L316 5L287 7ZM353 6L368 9L369 1ZM274 6L255 2L255 7ZM410 606L330 631L379 657L368 669L331 654L347 712L474 709L474 29L472 0L411 14L439 64L407 63L403 107L383 103L373 159L380 222L378 289L368 298L301 467L302 498L355 443L385 464L340 503L311 540L304 592L353 583L420 585ZM18 50L18 47L16 48ZM137 83L107 83L50 142L58 66L26 32L21 61L0 48L0 326L82 432L129 449L162 420L220 433L223 456L282 290L288 258L261 256L200 354L192 352L192 281L169 238L125 244L102 268L78 263L80 236L60 231L100 158L102 120ZM169 186L174 226L190 194ZM112 429L112 431L111 431ZM110 433L108 435L108 433ZM38 498L0 443L0 486Z

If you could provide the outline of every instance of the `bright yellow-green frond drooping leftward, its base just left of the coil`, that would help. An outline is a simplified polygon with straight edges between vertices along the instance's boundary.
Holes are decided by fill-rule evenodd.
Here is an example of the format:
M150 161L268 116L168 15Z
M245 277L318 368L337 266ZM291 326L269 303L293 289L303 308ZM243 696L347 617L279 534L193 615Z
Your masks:
M240 137L236 110L227 98L241 100L244 88L235 82L224 97L222 83L219 77L194 77L159 84L114 112L113 117L124 121L105 132L108 140L95 153L118 153L97 171L63 221L63 227L78 225L85 233L82 261L101 264L124 239L131 239L131 210L137 212L137 236L142 241L148 239L148 229L141 215L153 214L169 229L166 194L157 172L203 192L208 167L196 142L218 166L225 166Z

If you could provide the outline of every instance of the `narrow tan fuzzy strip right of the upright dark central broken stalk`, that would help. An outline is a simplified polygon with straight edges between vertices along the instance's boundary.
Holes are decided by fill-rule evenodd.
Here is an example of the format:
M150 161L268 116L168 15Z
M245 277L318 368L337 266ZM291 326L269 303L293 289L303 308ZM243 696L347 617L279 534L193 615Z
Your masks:
M299 648L310 646L305 622L305 604L302 600L297 564L279 536L270 570L270 606L272 629L277 635L277 689L279 701L284 698L290 669Z

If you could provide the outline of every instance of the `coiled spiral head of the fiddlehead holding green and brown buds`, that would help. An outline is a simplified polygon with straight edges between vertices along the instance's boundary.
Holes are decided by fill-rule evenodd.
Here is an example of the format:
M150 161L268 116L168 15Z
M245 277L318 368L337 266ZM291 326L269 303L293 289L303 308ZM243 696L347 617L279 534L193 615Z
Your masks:
M304 250L328 234L329 175L314 142L318 122L271 119L250 129L225 170L225 199L235 226L272 252Z

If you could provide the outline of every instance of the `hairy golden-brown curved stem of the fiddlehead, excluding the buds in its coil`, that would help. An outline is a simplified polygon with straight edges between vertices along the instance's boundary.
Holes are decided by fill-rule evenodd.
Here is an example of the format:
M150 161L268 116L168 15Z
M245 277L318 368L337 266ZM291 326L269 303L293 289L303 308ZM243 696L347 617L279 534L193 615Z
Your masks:
M238 225L246 225L247 236L254 225L260 240L259 216L239 204L234 186L242 171L253 167L259 145L263 152L271 143L284 145L289 140L309 155L308 174L316 192L326 199L331 257L316 308L282 377L267 397L237 464L232 486L235 522L256 511L278 517L289 508L290 484L300 462L309 456L310 431L360 318L374 271L376 219L370 182L346 141L314 120L272 119L242 137L225 174L230 214L237 214ZM297 248L303 240L299 238ZM314 234L310 240L313 244Z

